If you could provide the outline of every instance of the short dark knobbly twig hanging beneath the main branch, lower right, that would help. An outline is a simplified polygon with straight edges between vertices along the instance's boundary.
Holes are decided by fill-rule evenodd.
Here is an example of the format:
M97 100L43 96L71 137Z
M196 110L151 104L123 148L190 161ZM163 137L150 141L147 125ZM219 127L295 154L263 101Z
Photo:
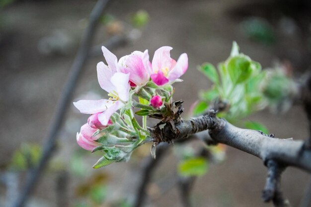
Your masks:
M266 186L262 192L262 199L264 202L273 201L275 207L291 207L289 201L283 197L281 191L281 174L285 170L285 166L275 162L274 160L268 160L268 177Z

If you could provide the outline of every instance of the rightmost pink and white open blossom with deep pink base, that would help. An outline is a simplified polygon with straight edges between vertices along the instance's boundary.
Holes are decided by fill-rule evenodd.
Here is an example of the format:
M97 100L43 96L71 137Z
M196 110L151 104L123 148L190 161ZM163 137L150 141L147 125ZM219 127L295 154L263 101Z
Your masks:
M153 74L151 75L151 79L157 85L164 85L169 81L174 81L183 75L188 69L187 54L181 54L176 62L174 59L170 58L169 51L171 49L173 48L163 46L155 52L152 61Z

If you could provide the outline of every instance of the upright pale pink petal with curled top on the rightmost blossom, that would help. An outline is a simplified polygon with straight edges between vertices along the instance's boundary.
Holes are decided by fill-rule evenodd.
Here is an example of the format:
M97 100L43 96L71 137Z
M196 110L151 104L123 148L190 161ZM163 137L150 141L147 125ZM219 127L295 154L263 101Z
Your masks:
M172 67L172 59L170 58L169 51L173 49L168 46L160 47L156 50L154 58L152 60L152 69L154 72L161 70L163 68L171 69Z

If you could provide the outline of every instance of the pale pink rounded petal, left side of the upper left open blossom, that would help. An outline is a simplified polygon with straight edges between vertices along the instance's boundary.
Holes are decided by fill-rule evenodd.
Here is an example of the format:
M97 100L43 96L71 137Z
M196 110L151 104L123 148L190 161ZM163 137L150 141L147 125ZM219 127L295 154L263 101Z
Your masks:
M110 79L113 75L113 72L108 66L106 66L103 62L99 62L97 64L97 78L98 83L102 89L110 93L114 90L114 86L112 85Z

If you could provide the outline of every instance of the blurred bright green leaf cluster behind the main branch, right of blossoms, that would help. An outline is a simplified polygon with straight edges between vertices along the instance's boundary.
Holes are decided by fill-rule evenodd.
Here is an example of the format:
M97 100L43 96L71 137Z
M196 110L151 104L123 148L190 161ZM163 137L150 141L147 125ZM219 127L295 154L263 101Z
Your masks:
M263 105L259 85L265 78L259 63L239 53L238 45L233 42L230 57L220 63L218 70L211 64L199 67L214 85L210 90L201 91L201 101L194 107L195 115L202 114L211 104L222 103L222 117L234 121L244 118Z

